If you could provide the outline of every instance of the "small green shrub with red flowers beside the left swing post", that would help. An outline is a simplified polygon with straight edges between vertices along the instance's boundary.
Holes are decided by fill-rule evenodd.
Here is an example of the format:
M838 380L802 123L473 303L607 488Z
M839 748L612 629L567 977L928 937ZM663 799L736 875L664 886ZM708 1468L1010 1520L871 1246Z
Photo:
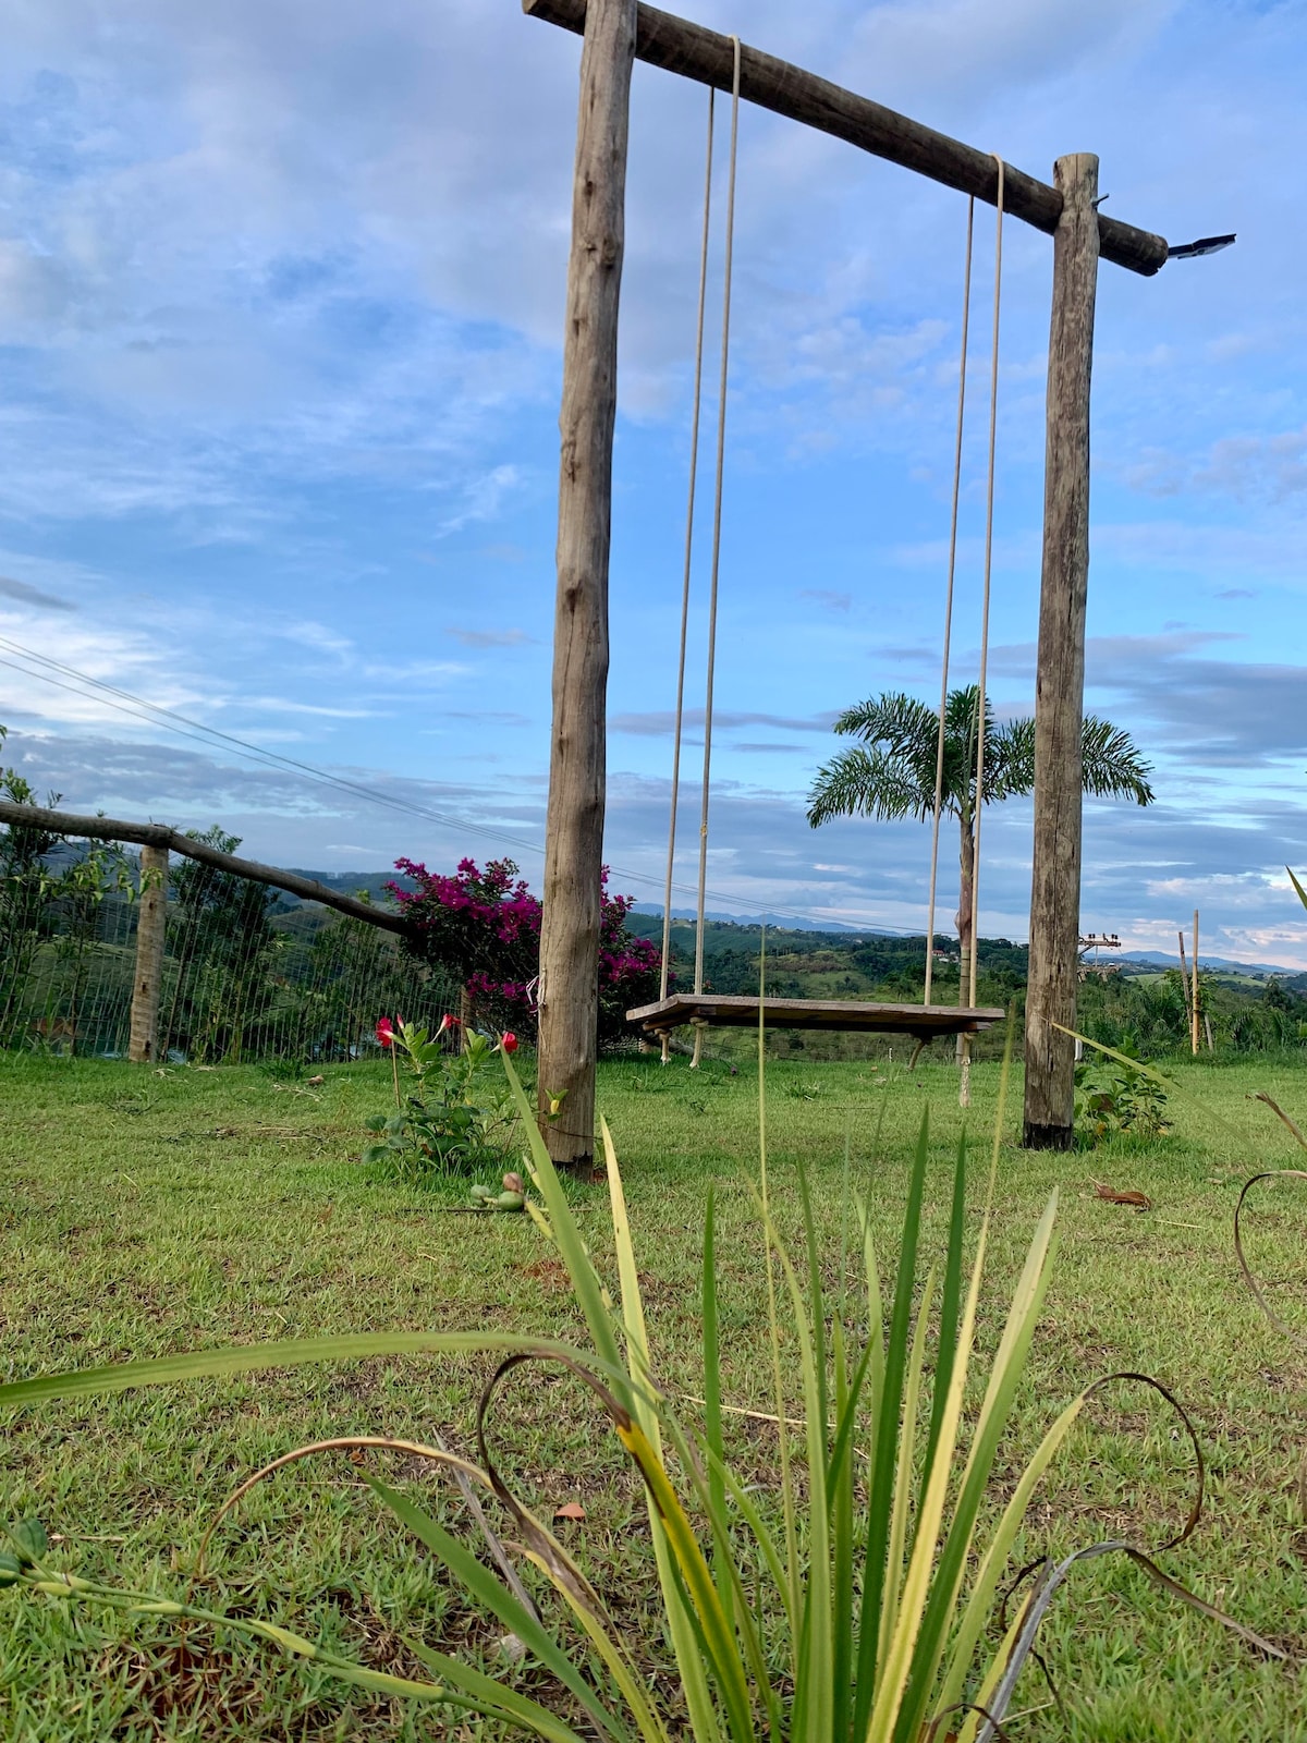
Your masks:
M488 1035L469 1030L462 1051L450 1053L444 1037L457 1028L457 1016L446 1016L434 1035L403 1018L378 1021L376 1039L392 1049L396 1061L399 1105L394 1114L373 1114L368 1121L376 1142L362 1152L364 1163L389 1163L406 1180L453 1168L504 1166L514 1149L516 1114L495 1058L498 1049ZM401 1053L410 1075L403 1100Z

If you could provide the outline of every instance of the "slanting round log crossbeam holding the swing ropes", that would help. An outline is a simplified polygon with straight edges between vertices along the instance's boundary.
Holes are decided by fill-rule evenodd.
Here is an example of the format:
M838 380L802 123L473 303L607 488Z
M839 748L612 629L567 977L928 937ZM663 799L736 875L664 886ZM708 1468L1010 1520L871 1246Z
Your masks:
M523 0L528 17L559 24L580 35L586 30L586 0ZM697 84L730 91L734 45L721 31L692 24L652 5L636 9L636 59L681 73ZM988 152L950 139L908 115L859 98L842 85L803 71L762 49L741 47L741 98L775 115L803 122L819 132L845 139L891 164L915 169L918 176L946 188L972 193L990 206L999 199L999 166ZM1061 192L1019 169L1004 169L1004 211L1053 235L1061 218ZM1150 277L1168 256L1164 237L1098 213L1098 253L1103 260Z

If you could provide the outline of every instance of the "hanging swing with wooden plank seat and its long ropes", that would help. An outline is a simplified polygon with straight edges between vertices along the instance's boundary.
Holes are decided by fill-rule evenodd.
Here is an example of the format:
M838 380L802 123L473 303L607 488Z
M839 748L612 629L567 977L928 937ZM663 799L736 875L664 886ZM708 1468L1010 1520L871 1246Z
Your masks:
M699 261L699 322L697 322L697 340L695 340L695 376L694 376L694 411L690 420L690 481L688 481L688 505L685 516L685 568L681 584L681 638L680 638L680 657L676 671L676 725L673 741L673 772L671 772L671 821L667 828L667 875L664 887L664 905L662 905L662 980L659 987L659 999L654 1004L638 1006L627 1011L627 1021L638 1023L647 1034L657 1035L662 1041L662 1060L667 1061L667 1039L673 1028L683 1023L692 1023L695 1030L694 1058L692 1065L699 1065L702 1051L702 1035L709 1027L720 1028L756 1028L760 1023L767 1023L774 1028L816 1028L816 1030L863 1030L870 1034L906 1034L911 1035L918 1048L929 1044L939 1035L958 1035L962 1039L962 1100L969 1100L967 1093L967 1067L969 1067L969 1041L965 1037L974 1035L978 1030L990 1028L993 1023L1000 1023L1006 1016L1002 1009L995 1007L974 1007L974 1006L943 1006L931 1004L931 971L934 966L934 913L936 913L936 887L938 887L938 870L939 870L939 817L943 810L943 779L945 779L945 706L948 701L948 657L951 641L951 622L953 622L953 577L957 566L957 523L958 523L958 492L962 479L962 429L964 429L964 408L965 408L965 385L967 385L967 331L969 331L969 312L971 312L971 253L972 253L972 225L974 225L974 197L967 206L967 249L965 249L965 270L964 270L964 296L962 296L962 364L958 373L958 415L957 415L957 448L953 460L953 512L951 512L951 530L950 530L950 553L948 553L948 591L945 605L945 645L943 645L943 675L939 687L939 739L936 755L936 790L934 790L934 814L932 814L932 831L931 831L931 898L929 898L929 920L925 929L925 988L922 1004L884 1004L861 999L774 999L774 997L744 997L744 995L721 995L704 992L704 901L706 901L706 884L708 884L708 812L709 812L709 795L711 795L711 765L713 765L713 683L716 668L716 608L718 608L718 573L720 573L720 554L721 554L721 478L725 465L725 434L727 434L727 370L730 357L730 281L732 281L732 254L734 254L734 234L735 234L735 164L737 164L737 136L739 136L739 78L741 78L741 42L739 37L732 37L734 45L734 68L732 68L732 91L730 91L730 164L727 171L727 220L725 220L725 261L723 261L723 307L721 307L721 368L718 382L718 424L716 424L716 485L714 485L714 504L713 504L713 554L711 554L711 579L709 579L709 598L708 598L708 682L706 682L706 699L704 699L704 772L701 784L701 817L699 817L699 891L697 891L697 924L695 924L695 960L694 960L694 992L676 992L671 994L667 988L667 962L671 953L671 896L673 896L673 866L676 858L676 809L680 800L680 777L681 777L681 729L685 718L685 648L687 633L690 621L690 568L692 568L692 547L694 547L694 509L695 509L695 483L697 483L697 462L699 462L699 415L702 406L702 370L704 370L704 305L708 291L708 249L709 249L709 232L711 232L711 190L713 190L713 120L714 120L714 91L709 87L708 92L708 152L706 152L706 174L704 174L704 223L702 223L702 249ZM999 162L999 228L995 241L995 268L993 268L993 357L992 357L992 376L990 376L990 451L988 451L988 509L986 509L986 526L985 526L985 598L983 598L983 617L981 617L981 662L979 662L979 716L978 716L978 739L976 739L976 791L983 793L985 781L985 678L986 678L986 661L988 661L988 627L990 627L990 572L992 572L992 551L993 551L993 453L995 453L995 411L997 411L997 387L999 387L999 291L1002 281L1002 220L1004 220L1004 162ZM979 903L979 819L983 805L976 807L976 835L974 835L974 865L972 873L972 896L971 896L971 957L969 957L969 987L976 987L976 922L978 922L978 903Z

